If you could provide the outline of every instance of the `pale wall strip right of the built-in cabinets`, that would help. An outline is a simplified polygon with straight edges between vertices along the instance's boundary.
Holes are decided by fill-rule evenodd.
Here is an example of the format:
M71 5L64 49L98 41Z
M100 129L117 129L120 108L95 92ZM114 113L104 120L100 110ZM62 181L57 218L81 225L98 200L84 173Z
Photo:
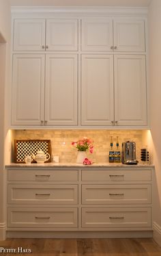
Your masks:
M161 246L161 1L149 6L149 73L151 103L151 137L156 167L153 185L153 238Z

